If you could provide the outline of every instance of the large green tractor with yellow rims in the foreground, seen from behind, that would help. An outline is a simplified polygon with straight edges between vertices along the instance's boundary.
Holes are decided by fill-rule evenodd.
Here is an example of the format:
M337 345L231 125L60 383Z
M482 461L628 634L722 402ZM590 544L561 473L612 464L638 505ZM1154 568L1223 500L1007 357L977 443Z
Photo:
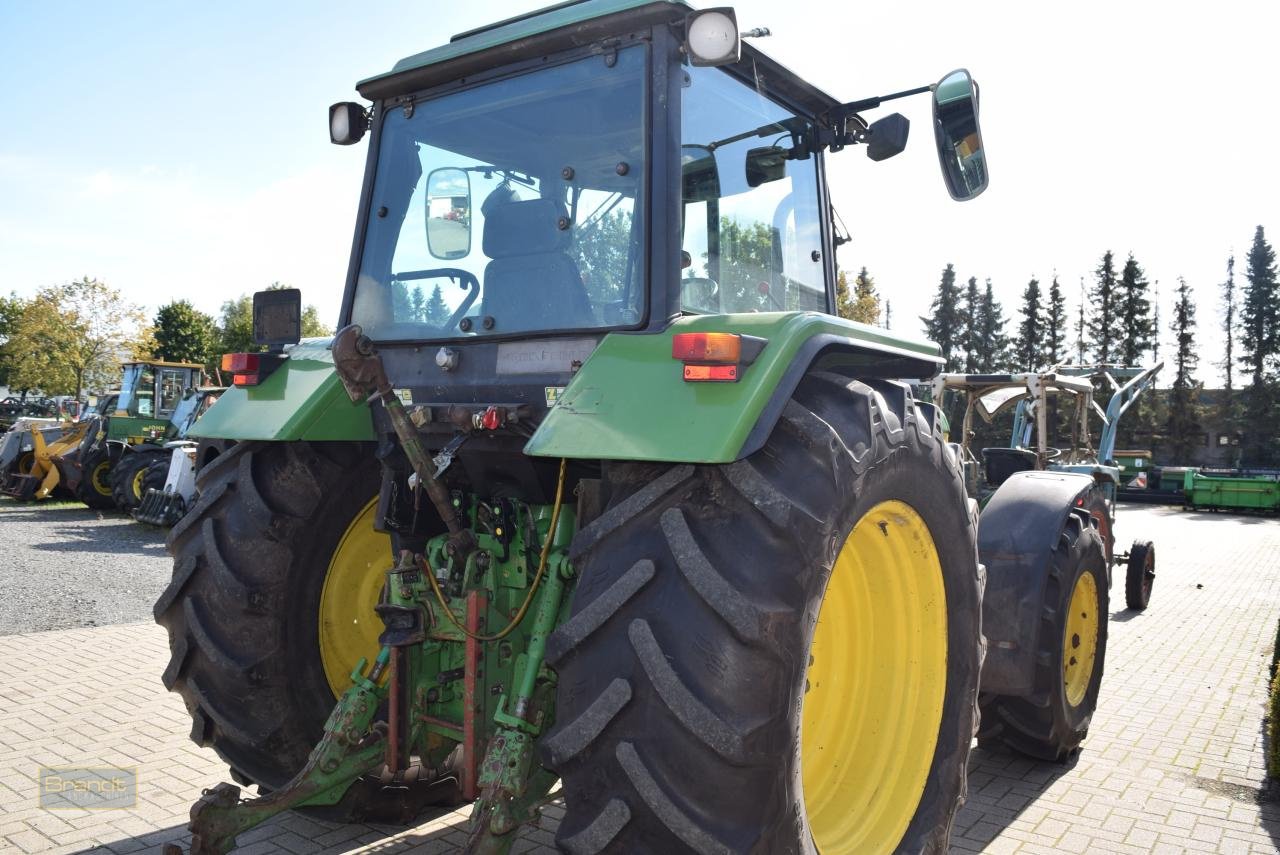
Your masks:
M842 102L731 10L588 0L358 91L343 329L256 296L270 349L227 357L193 434L236 444L169 536L164 683L264 794L207 791L193 851L463 800L503 852L557 779L571 852L945 851L977 504L902 380L938 348L835 316L824 170L932 93L977 196L969 74Z

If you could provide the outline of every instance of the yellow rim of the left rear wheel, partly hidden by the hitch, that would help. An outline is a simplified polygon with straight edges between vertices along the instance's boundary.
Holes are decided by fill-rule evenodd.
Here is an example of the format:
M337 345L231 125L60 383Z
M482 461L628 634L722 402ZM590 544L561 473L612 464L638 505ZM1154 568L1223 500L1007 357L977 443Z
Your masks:
M347 526L329 561L320 591L320 662L337 698L351 687L361 657L372 662L383 622L374 612L390 567L390 535L374 530L378 499Z

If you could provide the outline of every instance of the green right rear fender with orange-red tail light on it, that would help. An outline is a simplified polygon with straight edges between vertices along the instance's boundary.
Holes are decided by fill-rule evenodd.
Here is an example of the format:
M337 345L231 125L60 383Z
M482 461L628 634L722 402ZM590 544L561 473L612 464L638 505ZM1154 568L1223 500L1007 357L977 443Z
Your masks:
M686 383L677 333L767 339L737 383ZM525 447L536 457L728 463L759 449L806 370L924 379L936 344L817 312L686 316L660 333L613 333L582 364Z

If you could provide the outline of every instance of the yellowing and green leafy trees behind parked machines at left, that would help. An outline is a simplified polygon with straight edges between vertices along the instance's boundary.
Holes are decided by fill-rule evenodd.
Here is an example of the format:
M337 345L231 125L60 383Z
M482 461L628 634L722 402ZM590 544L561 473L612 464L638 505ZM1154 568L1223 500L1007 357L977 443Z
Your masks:
M269 288L287 288L273 283ZM329 335L315 306L302 311L302 335ZM218 317L175 300L151 317L116 288L84 276L0 297L0 385L18 393L74 396L114 389L123 360L197 362L218 379L223 353L253 344L253 298L223 303Z

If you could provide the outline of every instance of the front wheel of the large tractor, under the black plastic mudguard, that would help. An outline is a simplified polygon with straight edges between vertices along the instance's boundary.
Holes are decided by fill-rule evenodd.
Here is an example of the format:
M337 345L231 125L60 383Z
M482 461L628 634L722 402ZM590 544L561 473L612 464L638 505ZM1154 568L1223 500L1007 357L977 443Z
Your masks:
M984 696L979 745L1059 763L1075 755L1098 705L1108 612L1102 536L1088 513L1073 509L1050 559L1034 691Z

